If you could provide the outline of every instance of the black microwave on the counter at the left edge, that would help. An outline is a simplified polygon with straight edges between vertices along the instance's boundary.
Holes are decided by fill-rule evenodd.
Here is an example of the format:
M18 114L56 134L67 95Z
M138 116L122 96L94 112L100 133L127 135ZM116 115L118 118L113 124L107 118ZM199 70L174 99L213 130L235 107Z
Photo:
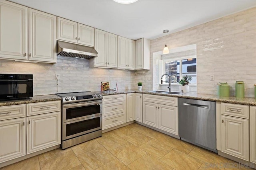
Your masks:
M0 100L33 97L33 74L0 74Z

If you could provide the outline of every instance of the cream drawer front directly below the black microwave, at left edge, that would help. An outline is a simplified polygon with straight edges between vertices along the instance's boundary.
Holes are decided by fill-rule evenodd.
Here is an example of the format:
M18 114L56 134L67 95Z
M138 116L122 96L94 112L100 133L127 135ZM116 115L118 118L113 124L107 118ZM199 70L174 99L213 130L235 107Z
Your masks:
M26 116L26 104L0 107L0 120Z

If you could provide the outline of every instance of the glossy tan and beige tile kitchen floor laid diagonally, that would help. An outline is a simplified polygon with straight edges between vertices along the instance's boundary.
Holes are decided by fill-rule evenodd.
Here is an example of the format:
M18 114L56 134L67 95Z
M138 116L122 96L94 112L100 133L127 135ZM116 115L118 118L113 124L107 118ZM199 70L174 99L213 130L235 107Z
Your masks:
M66 150L55 149L1 170L204 170L244 169L218 156L137 123Z

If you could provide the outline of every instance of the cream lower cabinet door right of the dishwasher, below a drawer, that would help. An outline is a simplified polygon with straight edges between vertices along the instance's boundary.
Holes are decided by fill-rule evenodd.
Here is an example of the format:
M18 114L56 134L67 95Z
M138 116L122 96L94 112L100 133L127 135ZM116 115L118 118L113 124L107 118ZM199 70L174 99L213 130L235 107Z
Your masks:
M221 116L221 151L249 161L249 121Z

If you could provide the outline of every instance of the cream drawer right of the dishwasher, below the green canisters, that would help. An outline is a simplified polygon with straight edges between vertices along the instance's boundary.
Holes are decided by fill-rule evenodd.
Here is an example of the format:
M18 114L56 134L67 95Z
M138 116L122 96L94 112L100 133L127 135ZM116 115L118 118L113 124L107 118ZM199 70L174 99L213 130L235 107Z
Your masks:
M221 103L221 114L249 119L249 106Z

